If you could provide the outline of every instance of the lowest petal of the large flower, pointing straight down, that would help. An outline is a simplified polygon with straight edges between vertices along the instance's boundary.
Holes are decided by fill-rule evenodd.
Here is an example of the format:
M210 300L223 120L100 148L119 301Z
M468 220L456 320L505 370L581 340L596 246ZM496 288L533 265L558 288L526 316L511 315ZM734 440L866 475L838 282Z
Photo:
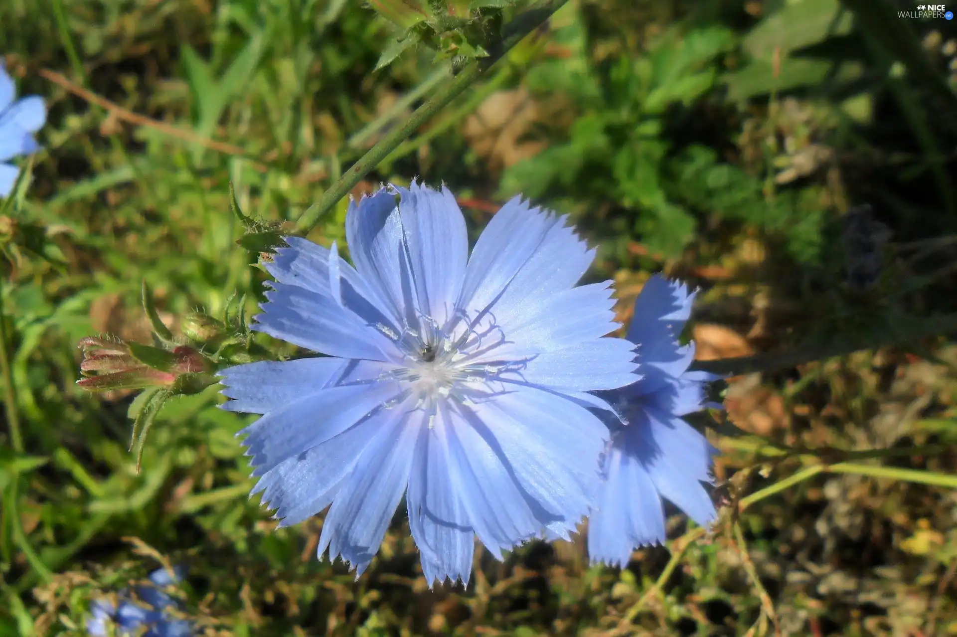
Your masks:
M475 531L461 524L468 515L457 495L457 476L449 469L448 410L440 409L436 419L437 426L420 428L415 446L406 494L409 527L422 553L422 573L430 587L446 580L468 585Z

